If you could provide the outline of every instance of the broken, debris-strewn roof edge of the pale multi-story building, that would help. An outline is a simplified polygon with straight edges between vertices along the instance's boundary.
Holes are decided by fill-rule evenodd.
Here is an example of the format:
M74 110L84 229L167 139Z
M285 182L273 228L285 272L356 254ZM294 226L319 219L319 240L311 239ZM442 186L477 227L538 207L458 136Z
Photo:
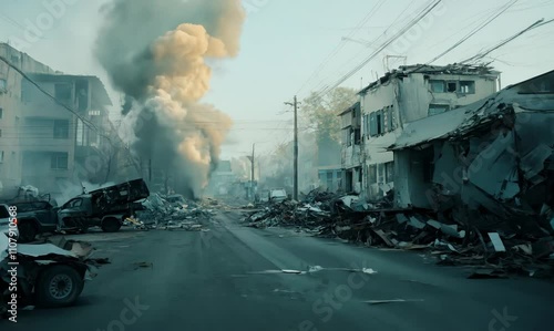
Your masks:
M428 73L428 74L455 74L455 75L499 75L499 71L494 71L491 66L486 65L470 65L470 64L448 64L448 65L428 65L428 64L412 64L401 65L396 70L386 73L382 77L370 83L362 89L358 94L365 94L369 90L378 85L384 84L396 77L404 77L412 73Z

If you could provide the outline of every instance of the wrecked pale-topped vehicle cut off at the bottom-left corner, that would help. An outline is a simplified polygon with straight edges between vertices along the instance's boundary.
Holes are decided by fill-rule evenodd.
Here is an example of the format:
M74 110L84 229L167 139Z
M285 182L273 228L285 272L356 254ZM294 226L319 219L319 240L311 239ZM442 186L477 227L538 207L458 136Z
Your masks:
M63 241L63 240L62 240ZM13 318L13 307L59 308L71 306L91 279L86 257L92 247L84 242L18 245L0 235L0 317ZM17 261L14 268L10 263Z

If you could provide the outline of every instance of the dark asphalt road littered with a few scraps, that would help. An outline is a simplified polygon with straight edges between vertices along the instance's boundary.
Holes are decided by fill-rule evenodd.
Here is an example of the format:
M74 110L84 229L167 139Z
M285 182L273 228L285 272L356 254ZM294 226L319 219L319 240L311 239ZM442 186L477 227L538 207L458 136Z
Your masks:
M223 213L205 232L81 236L112 263L78 304L21 311L0 330L552 330L552 282L470 280L420 252L245 228L236 218Z

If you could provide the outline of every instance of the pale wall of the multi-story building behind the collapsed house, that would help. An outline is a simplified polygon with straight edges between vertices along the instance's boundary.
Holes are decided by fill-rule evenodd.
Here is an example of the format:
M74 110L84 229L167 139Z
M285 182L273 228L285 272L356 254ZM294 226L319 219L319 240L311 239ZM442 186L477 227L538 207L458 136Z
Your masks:
M444 82L444 92L434 91L431 81ZM461 82L468 81L474 82L471 91L460 93L458 89ZM458 84L456 92L447 92L448 83ZM387 148L402 134L404 124L432 115L432 106L448 106L452 110L482 100L496 90L495 74L412 73L401 79L392 77L362 94L362 190L367 193L367 197L377 199L394 187L393 172L398 172L399 167L393 164L393 153ZM383 118L381 131L378 135L371 135L372 116L376 114Z

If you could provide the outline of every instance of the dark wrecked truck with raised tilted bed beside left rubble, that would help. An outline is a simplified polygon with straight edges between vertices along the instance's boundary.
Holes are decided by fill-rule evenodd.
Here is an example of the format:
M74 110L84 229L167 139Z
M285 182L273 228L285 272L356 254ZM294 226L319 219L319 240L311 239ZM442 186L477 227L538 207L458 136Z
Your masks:
M105 232L119 231L125 219L134 215L135 203L148 196L143 179L80 195L65 203L58 213L60 229L86 231L98 226Z

